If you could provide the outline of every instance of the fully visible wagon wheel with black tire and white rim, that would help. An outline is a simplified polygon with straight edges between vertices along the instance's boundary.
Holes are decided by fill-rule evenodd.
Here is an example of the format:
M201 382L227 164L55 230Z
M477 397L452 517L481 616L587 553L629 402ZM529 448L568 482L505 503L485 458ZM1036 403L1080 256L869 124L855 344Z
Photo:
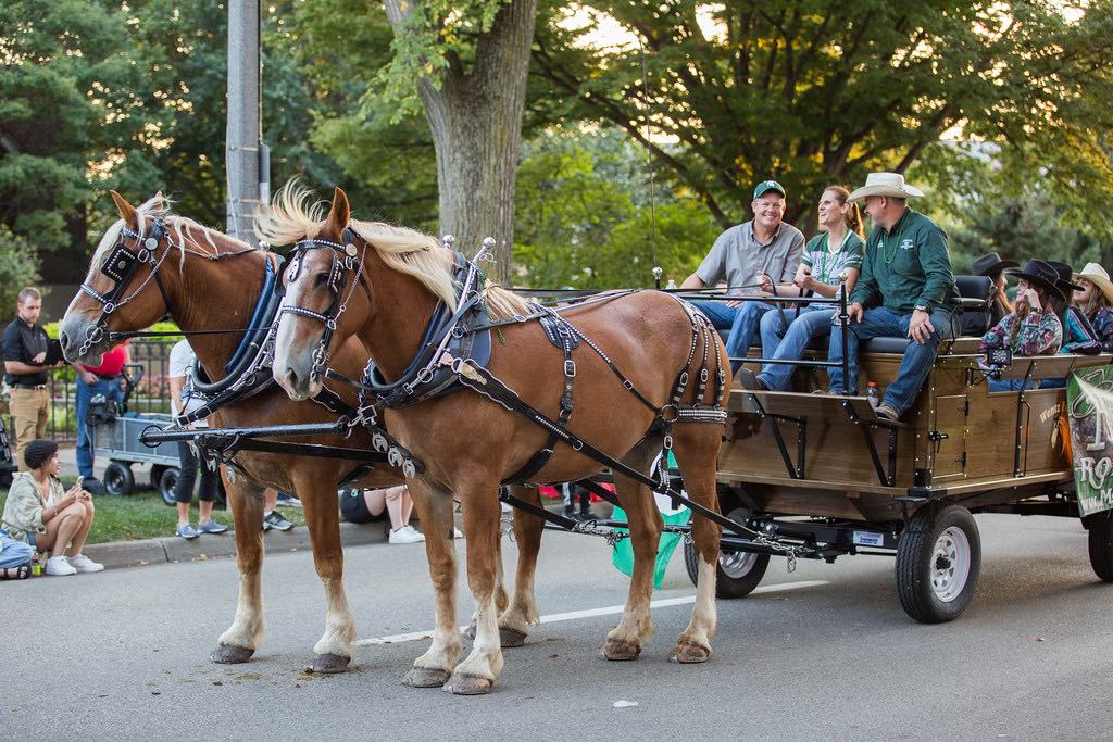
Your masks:
M897 545L897 595L920 623L954 621L974 598L982 572L982 537L961 505L927 505Z

